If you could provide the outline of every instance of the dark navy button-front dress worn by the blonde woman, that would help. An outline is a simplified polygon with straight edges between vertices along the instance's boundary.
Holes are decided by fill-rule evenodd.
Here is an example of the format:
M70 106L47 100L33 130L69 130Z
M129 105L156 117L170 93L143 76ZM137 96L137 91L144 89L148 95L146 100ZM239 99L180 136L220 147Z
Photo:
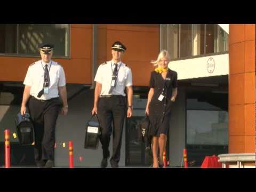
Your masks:
M154 95L149 104L150 134L159 137L161 133L167 134L170 126L171 106L173 101L172 89L178 86L177 72L171 69L167 70L165 79L162 74L156 71L151 72L149 87L154 89ZM164 98L159 101L159 95Z

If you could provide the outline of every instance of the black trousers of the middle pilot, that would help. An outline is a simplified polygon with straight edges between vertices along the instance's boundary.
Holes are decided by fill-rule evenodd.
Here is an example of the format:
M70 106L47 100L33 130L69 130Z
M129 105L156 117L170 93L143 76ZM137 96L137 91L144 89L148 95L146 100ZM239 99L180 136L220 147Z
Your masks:
M107 158L110 136L112 133L113 124L113 154L110 161L116 163L120 160L121 143L124 119L126 116L126 97L117 95L110 98L99 98L98 102L98 117L102 134L100 142L103 150L103 158Z

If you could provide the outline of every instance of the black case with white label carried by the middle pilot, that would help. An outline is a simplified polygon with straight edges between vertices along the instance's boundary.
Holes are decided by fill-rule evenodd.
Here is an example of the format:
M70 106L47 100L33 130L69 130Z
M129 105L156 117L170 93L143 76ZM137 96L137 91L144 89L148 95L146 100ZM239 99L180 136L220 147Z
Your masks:
M97 121L91 120L94 116L97 117ZM101 135L101 127L100 127L99 118L96 114L94 114L86 123L84 148L93 149L93 150L98 149L100 135Z

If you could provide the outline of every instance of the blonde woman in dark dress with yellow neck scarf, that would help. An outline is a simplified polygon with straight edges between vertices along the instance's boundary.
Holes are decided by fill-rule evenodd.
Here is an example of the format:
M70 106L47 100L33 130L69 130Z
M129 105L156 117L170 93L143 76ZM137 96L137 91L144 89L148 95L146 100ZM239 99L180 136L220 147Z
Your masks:
M177 97L177 72L168 68L170 55L166 50L159 53L158 66L151 72L148 101L145 114L149 116L153 151L153 167L163 167L163 152L166 146L167 131L170 127L171 106ZM159 159L158 159L159 149Z

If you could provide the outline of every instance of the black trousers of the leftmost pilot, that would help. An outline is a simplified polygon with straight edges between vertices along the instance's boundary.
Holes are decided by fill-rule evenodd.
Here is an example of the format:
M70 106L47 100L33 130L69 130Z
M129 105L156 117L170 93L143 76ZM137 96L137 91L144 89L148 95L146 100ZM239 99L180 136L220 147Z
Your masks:
M35 161L54 160L55 126L61 102L59 98L41 101L30 97L28 111L35 130Z

